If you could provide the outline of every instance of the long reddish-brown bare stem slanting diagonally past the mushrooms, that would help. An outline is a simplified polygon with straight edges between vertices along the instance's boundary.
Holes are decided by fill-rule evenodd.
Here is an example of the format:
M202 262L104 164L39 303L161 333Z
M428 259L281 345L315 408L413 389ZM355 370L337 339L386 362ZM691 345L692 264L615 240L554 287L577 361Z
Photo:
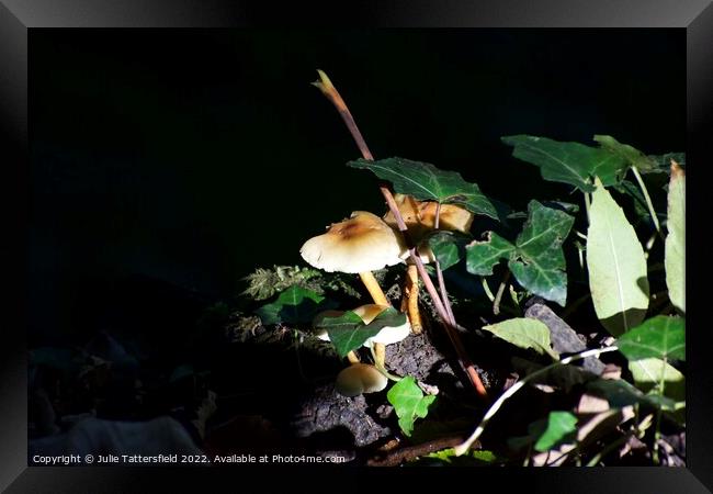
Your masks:
M317 86L319 90L322 92L322 94L325 94L327 99L329 99L329 101L331 101L331 103L337 108L339 114L341 115L342 120L347 124L347 128L349 128L349 132L354 138L354 142L356 143L356 146L359 147L359 150L361 151L363 158L367 160L373 160L374 156L372 155L371 150L369 150L369 147L366 146L366 142L364 141L364 137L359 131L354 117L349 111L349 108L347 108L347 103L344 103L344 100L341 98L341 96L337 91L337 88L335 88L335 86L331 83L327 75L321 70L318 70L318 72L321 81L313 82L313 85ZM401 216L401 213L398 210L398 205L394 200L394 195L392 194L392 191L388 190L388 188L383 183L378 186L378 189L381 190L382 195L386 200L386 204L388 205L388 209L391 210L392 214L394 215L394 218L396 220L398 229L400 231L401 235L404 236L404 240L408 246L409 258L411 262L416 265L418 269L418 273L421 277L421 280L423 280L423 285L426 287L426 290L428 291L429 295L431 296L431 300L433 301L435 311L438 312L439 317L443 323L443 327L445 328L445 333L448 334L451 344L455 348L459 359L461 360L461 364L465 368L466 374L468 375L471 383L473 384L477 393L483 397L487 397L487 391L483 385L483 381L480 381L480 377L478 375L477 371L475 370L475 367L471 362L471 359L467 356L465 348L463 347L463 343L461 341L457 330L455 329L454 325L450 322L449 313L443 302L441 301L441 297L439 296L438 291L435 290L435 287L431 281L431 278L428 276L428 272L426 271L426 267L423 266L421 258L416 254L416 246L414 244L411 236L408 233L408 228L406 227L406 223L404 222L404 216Z

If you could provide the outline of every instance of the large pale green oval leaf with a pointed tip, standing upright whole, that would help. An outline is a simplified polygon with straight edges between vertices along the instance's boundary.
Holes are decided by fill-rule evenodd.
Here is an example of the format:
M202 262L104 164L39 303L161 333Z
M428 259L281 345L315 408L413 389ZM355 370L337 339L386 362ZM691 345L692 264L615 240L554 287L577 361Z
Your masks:
M622 209L601 186L589 209L587 269L602 325L614 336L637 326L648 307L644 249Z

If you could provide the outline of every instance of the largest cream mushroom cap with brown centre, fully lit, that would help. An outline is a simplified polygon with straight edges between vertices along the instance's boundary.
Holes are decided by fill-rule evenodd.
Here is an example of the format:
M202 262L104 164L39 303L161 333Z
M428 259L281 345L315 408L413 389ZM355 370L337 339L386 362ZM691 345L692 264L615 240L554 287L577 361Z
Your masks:
M354 211L299 249L302 258L327 272L358 273L403 262L399 236L375 214Z

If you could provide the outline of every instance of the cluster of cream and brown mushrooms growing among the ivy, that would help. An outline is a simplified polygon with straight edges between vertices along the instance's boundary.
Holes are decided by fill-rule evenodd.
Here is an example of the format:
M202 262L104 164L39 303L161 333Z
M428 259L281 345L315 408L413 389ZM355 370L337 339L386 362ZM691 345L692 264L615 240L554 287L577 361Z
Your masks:
M427 236L434 229L467 233L473 223L473 213L452 204L432 201L417 201L410 195L395 194L394 199L404 217L409 235L418 246L418 255L425 263L433 262L434 256L428 246ZM440 207L440 211L439 211ZM437 223L438 214L438 225ZM408 248L398 231L396 218L388 211L383 218L366 211L354 211L349 218L333 223L327 232L307 240L299 250L310 266L327 272L359 273L374 303L352 310L364 324L369 324L391 303L372 271L405 263ZM336 389L346 396L382 391L388 383L385 367L386 345L398 343L410 334L422 330L418 311L418 271L416 265L407 262L404 299L400 306L406 312L406 324L386 326L364 343L372 349L374 364L363 363L354 351L347 356L350 366L343 369L336 381ZM326 311L315 317L318 326L325 317L342 315L340 311ZM326 330L318 333L322 340L329 340Z

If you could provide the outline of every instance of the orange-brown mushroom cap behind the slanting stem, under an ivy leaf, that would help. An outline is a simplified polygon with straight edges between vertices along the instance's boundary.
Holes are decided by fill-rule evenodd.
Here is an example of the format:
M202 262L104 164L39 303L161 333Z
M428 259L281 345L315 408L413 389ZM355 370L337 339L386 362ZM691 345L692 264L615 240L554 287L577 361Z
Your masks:
M394 200L398 205L398 211L404 217L404 223L408 228L414 242L418 245L417 251L423 263L433 262L435 257L433 251L426 244L421 243L426 235L435 227L435 210L438 203L434 201L417 201L411 195L394 194ZM473 225L474 214L468 210L454 204L441 204L439 214L439 229L449 232L467 233ZM384 215L384 222L394 228L398 228L396 218L391 211ZM408 257L408 250L401 255L401 258Z

